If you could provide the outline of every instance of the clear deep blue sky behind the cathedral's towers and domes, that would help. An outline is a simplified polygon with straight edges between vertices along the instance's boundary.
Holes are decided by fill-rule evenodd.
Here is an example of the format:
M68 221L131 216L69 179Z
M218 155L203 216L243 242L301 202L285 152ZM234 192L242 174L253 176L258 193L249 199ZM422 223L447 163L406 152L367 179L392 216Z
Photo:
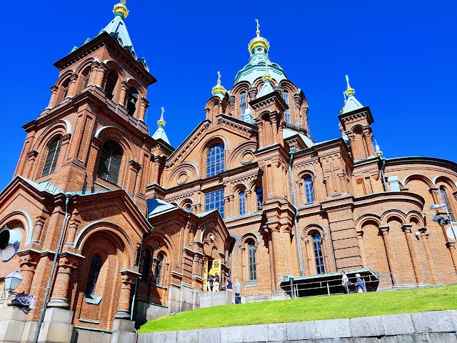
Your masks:
M21 126L47 106L58 77L52 65L113 18L115 1L4 1L1 21L3 167L16 168ZM160 107L179 146L205 119L216 71L230 89L255 36L303 89L315 141L337 138L345 74L370 106L386 158L434 156L457 161L457 1L139 1L126 19L138 56L159 81L149 87L151 134Z

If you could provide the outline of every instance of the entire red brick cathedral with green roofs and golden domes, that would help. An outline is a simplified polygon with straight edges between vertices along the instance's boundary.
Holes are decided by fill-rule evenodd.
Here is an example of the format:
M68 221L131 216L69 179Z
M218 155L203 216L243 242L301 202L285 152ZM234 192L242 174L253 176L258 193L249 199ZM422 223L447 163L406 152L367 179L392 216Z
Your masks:
M343 270L368 290L456 282L456 163L384 159L349 81L342 137L314 141L306 96L258 26L231 89L219 77L174 148L164 111L152 136L144 121L156 79L124 0L114 14L54 64L0 193L0 342L131 342L133 321L214 298L211 277L221 297L238 279L243 301L342 292ZM28 312L5 289L16 269Z

